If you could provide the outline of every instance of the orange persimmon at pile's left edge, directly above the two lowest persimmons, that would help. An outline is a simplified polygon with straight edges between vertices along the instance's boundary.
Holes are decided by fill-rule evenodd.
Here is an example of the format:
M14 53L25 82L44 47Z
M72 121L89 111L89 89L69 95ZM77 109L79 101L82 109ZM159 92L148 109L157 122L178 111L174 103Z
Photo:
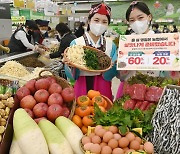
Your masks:
M75 114L80 117L90 115L90 113L91 113L91 108L89 106L79 106L76 107L75 109Z

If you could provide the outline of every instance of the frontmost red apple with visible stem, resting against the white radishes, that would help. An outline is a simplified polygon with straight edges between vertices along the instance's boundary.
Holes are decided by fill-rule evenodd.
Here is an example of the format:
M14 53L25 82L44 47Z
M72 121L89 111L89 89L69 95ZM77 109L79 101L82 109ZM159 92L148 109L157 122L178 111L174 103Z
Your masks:
M56 118L62 115L62 107L59 104L52 104L47 111L48 120L54 122Z

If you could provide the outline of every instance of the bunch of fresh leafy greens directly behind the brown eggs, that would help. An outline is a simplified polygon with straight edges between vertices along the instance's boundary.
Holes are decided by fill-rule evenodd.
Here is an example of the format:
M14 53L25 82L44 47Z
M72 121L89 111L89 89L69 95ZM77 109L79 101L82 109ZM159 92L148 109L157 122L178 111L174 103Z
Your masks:
M130 131L133 128L142 128L143 136L150 133L152 130L151 119L155 106L152 106L147 111L141 111L140 109L125 110L122 104L126 99L128 99L128 96L123 96L115 101L113 107L105 113L95 104L95 124L102 126L116 125L122 133L126 133L127 128Z

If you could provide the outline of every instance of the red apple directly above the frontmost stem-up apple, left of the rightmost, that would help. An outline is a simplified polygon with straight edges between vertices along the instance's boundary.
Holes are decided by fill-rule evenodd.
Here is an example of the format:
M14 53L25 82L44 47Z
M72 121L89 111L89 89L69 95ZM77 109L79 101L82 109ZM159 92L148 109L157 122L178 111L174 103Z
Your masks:
M52 104L62 105L63 104L62 96L58 93L51 94L48 98L48 105L52 105Z

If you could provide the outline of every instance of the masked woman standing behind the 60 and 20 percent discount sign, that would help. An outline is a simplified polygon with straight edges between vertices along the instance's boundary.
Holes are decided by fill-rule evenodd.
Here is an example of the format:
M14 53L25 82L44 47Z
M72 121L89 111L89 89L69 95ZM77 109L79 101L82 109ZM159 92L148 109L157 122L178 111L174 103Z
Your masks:
M138 34L154 34L155 32L150 29L152 15L148 6L144 2L134 1L130 4L126 11L126 20L129 22L130 27L134 31L133 35ZM151 76L165 76L164 71L140 71L142 73ZM133 71L120 71L119 77L122 81L118 88L116 98L122 96L123 85L125 80L136 74L136 70Z

